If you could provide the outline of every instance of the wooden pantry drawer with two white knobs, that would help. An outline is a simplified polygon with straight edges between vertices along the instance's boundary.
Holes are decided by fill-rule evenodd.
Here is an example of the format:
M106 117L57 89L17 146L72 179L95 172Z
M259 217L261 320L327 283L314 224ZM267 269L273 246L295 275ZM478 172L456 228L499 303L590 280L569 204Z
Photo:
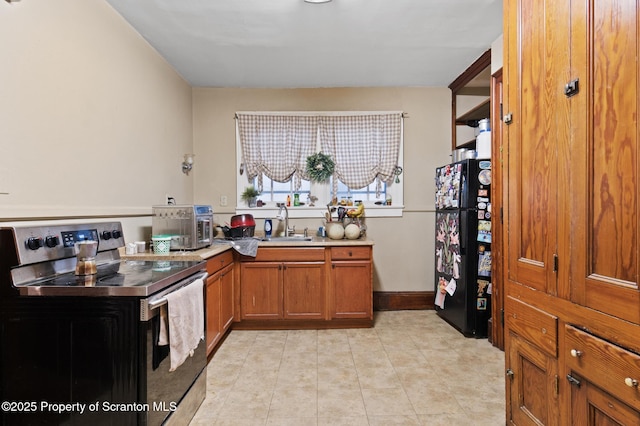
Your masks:
M565 326L565 359L572 371L636 410L640 409L640 356L570 325Z

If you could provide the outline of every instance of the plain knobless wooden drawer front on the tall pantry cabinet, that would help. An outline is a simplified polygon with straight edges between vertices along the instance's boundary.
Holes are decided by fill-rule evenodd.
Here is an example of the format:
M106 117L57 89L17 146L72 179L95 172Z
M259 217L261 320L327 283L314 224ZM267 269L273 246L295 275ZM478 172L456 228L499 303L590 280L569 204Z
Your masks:
M505 300L506 326L553 358L558 356L558 317L522 303Z

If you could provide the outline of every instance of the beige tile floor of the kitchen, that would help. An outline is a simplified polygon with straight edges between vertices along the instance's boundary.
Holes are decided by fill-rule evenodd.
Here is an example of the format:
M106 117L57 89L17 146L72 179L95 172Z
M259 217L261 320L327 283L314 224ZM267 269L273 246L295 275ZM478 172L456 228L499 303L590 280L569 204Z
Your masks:
M232 331L207 371L200 425L505 424L504 353L435 311L349 330Z

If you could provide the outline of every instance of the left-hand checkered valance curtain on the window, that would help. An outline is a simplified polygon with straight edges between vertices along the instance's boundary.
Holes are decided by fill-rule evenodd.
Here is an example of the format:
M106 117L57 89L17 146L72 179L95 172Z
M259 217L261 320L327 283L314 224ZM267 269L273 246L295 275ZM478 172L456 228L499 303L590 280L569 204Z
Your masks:
M318 117L236 114L242 157L249 180L262 175L276 182L294 178L295 189L307 178L307 157L316 151Z

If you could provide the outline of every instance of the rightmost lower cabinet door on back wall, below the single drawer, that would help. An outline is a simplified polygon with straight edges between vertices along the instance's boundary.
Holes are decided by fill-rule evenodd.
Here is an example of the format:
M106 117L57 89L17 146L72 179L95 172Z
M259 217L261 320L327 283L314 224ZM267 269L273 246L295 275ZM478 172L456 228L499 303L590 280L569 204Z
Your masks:
M373 319L371 262L332 262L333 318Z

